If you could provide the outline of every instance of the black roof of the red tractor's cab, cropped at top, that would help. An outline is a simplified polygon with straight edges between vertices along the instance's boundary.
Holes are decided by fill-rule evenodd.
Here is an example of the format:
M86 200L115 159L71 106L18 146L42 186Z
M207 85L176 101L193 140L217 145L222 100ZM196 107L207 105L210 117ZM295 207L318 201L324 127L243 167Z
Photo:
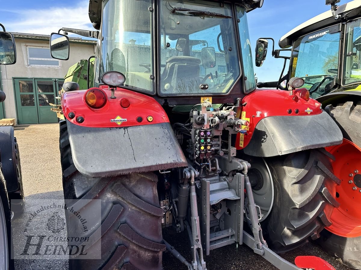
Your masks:
M121 0L118 0L121 1ZM128 0L130 1L130 0ZM220 0L209 0L214 2L223 2ZM243 4L247 8L247 12L259 8L262 6L264 0L230 0L230 2ZM355 0L357 1L357 0ZM98 24L100 26L101 23L101 7L103 0L89 0L89 18L93 25Z

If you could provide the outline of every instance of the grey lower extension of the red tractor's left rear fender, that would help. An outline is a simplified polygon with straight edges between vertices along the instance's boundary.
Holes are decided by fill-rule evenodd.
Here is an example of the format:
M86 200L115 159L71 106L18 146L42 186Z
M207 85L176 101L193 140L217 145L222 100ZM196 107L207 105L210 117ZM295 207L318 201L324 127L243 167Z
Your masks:
M86 176L187 167L170 123L95 128L66 122L74 165Z

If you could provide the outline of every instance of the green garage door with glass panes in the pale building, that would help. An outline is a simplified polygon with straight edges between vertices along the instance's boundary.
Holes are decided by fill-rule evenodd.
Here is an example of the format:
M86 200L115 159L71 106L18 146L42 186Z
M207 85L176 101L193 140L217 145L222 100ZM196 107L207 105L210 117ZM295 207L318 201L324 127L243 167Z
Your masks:
M56 104L56 96L63 79L14 78L16 109L19 125L56 123L56 113L49 103Z

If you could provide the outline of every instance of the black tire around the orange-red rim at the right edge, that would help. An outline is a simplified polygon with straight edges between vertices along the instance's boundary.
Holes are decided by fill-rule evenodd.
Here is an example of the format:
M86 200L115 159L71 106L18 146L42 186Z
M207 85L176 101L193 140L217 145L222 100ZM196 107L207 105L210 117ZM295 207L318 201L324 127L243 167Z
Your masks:
M340 127L344 138L361 147L361 102L328 105L325 111ZM323 230L318 243L327 254L341 258L344 265L361 269L361 237L342 237Z

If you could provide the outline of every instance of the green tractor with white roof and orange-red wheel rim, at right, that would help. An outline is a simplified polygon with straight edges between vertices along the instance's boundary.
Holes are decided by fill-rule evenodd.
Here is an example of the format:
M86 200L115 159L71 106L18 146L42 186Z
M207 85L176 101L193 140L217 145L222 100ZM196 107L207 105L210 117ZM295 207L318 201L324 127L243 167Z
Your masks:
M290 59L288 74L283 78L281 74L277 82L258 82L257 86L287 90L280 82L303 78L304 92L320 102L340 127L343 143L326 148L333 159L334 174L341 180L336 187L339 207L332 210L319 243L345 265L361 269L361 6L357 0L339 7L338 2L326 0L330 11L280 39L282 49L273 49L272 55L284 58L283 69ZM268 39L257 41L260 51L265 50ZM291 51L291 57L280 56L282 51ZM257 66L264 60L260 56Z

